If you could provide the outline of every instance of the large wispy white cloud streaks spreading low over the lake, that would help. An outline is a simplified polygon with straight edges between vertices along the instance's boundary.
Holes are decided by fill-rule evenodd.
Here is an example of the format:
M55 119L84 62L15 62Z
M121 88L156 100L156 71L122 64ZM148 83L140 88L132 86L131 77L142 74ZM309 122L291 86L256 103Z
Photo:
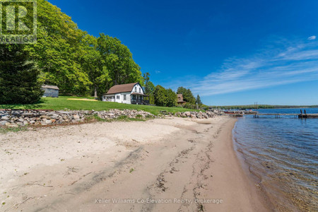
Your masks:
M265 49L250 57L227 59L218 71L196 83L189 82L188 87L194 93L211 96L318 80L317 49L314 43L298 43Z

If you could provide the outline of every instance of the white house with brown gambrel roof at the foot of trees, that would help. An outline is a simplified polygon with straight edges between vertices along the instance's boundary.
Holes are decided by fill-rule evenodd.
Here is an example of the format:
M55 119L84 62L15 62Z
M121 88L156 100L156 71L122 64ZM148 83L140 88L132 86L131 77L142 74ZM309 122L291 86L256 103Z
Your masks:
M112 86L107 93L102 95L103 102L148 105L149 101L145 98L148 98L148 95L144 94L143 87L139 83Z

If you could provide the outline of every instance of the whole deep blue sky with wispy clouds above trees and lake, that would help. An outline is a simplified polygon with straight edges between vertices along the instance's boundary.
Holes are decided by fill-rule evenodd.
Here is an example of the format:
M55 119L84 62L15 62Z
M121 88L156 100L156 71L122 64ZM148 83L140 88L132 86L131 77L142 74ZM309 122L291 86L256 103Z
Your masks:
M49 0L206 105L318 105L318 1ZM316 37L317 36L317 37Z

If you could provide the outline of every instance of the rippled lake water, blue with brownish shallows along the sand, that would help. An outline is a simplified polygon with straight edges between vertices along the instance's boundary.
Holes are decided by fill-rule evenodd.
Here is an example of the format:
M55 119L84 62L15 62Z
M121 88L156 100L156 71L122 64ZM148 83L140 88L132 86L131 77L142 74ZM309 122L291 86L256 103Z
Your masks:
M318 113L318 108L305 110ZM300 113L300 109L258 111ZM238 119L233 140L242 163L278 211L318 211L318 119L249 115Z

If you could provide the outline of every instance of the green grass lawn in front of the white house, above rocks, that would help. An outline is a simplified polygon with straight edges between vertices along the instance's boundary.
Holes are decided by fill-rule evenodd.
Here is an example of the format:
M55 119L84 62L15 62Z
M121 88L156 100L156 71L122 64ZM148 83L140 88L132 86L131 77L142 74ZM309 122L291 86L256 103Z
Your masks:
M80 100L67 100L68 98L77 98ZM40 102L31 105L0 105L0 109L37 109L37 110L110 110L110 109L129 109L144 110L152 114L159 114L161 110L167 112L185 112L192 111L182 107L155 107L148 105L127 105L117 102L84 101L85 98L59 96L59 98L42 98ZM94 98L86 98L93 100Z

